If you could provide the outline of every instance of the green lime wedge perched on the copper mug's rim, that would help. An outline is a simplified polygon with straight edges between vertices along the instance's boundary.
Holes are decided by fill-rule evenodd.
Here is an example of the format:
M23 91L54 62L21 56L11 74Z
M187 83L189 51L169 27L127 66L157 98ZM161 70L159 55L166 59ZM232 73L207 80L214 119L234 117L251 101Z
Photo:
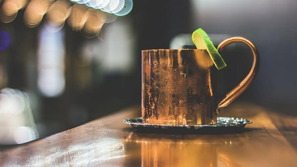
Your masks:
M218 70L227 66L218 50L214 47L207 34L201 28L193 32L192 41L197 49L207 50L211 60Z

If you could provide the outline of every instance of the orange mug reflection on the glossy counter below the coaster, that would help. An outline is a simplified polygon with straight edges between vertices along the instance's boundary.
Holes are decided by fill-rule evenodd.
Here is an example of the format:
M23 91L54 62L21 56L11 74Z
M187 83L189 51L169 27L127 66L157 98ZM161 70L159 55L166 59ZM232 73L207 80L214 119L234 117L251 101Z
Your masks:
M237 163L228 155L222 158L219 148L232 147L231 140L239 142L238 138L232 137L218 139L207 135L179 136L131 132L126 138L125 150L127 156L134 156L131 154L137 152L138 148L132 148L131 143L139 143L142 167L229 167L228 165Z

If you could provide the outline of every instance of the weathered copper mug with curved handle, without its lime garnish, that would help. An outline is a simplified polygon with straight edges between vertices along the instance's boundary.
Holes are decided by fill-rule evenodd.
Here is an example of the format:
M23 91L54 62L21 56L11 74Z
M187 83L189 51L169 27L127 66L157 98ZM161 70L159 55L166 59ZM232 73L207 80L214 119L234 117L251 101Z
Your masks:
M246 43L253 55L246 78L218 103L215 102L212 74L216 68L207 50L151 49L142 51L143 123L162 125L214 125L220 108L243 93L254 79L259 56L252 42L232 37L218 45Z

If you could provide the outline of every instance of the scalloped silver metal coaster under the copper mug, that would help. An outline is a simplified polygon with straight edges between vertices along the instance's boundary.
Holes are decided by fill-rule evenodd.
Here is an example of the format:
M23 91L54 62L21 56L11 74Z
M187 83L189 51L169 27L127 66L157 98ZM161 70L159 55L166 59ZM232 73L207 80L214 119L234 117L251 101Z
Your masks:
M228 133L241 131L252 122L243 118L218 117L215 125L159 125L142 122L142 118L126 119L123 121L141 131L154 132L202 132L202 133Z

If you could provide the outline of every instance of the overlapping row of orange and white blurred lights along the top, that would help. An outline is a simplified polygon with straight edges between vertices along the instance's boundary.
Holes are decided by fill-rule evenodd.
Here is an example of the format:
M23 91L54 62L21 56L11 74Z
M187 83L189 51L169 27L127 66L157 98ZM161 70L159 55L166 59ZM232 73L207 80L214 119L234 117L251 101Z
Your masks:
M19 10L24 10L24 23L36 27L42 20L52 31L60 30L65 22L86 37L96 37L104 23L128 14L132 0L0 0L0 20L12 22Z

